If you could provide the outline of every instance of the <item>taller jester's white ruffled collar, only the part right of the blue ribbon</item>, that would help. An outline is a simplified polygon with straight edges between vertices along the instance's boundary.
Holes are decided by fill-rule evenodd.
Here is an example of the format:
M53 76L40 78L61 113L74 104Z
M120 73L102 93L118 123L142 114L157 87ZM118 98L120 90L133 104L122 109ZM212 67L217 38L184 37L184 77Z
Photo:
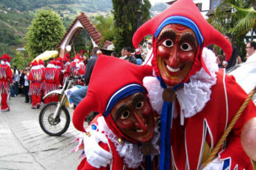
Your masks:
M210 100L212 91L210 87L216 84L215 72L219 70L216 63L216 56L207 48L202 52L203 61L208 68L211 76L203 68L196 74L190 76L190 82L185 83L182 89L176 91L179 104L181 106L181 125L183 118L190 118L205 107ZM174 113L174 118L177 114Z

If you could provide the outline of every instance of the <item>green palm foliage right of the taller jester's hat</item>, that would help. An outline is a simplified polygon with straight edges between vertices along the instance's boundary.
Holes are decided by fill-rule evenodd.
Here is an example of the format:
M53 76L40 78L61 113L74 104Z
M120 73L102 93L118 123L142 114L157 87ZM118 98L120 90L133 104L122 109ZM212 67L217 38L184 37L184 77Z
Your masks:
M232 43L238 47L242 58L246 56L244 40L253 40L256 33L256 12L252 7L255 5L255 0L223 0L208 20L219 32L232 34ZM248 32L251 33L249 39Z

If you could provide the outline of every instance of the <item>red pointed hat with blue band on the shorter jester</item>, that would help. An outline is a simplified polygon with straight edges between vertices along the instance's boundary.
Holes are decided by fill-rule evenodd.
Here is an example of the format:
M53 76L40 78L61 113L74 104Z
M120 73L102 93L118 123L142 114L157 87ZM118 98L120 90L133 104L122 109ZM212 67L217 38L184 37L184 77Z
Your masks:
M84 130L84 119L91 111L98 111L106 120L107 125L118 138L126 138L116 127L110 112L122 98L136 92L147 94L143 87L143 78L152 76L149 65L134 65L116 57L100 55L93 67L86 97L75 108L73 125L79 131ZM128 139L134 142L131 139Z

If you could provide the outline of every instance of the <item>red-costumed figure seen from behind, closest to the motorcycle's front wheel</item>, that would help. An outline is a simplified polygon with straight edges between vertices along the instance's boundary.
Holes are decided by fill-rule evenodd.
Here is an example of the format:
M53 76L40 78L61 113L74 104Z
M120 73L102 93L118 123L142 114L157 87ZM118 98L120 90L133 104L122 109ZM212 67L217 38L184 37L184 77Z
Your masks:
M58 89L60 86L59 81L59 72L55 68L56 61L51 61L47 65L44 71L44 95L48 94L49 92L52 92L55 89ZM58 96L57 94L52 94L51 96L48 96L47 98L44 98L44 103L51 103L51 102L57 102Z

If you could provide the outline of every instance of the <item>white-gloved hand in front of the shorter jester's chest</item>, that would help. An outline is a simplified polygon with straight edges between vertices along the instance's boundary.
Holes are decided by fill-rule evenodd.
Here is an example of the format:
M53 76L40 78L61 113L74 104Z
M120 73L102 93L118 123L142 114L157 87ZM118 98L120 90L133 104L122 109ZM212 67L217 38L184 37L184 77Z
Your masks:
M84 135L84 153L86 159L92 167L107 167L113 156L108 151L102 149L99 142L108 143L107 137L101 132L92 130L89 135Z

